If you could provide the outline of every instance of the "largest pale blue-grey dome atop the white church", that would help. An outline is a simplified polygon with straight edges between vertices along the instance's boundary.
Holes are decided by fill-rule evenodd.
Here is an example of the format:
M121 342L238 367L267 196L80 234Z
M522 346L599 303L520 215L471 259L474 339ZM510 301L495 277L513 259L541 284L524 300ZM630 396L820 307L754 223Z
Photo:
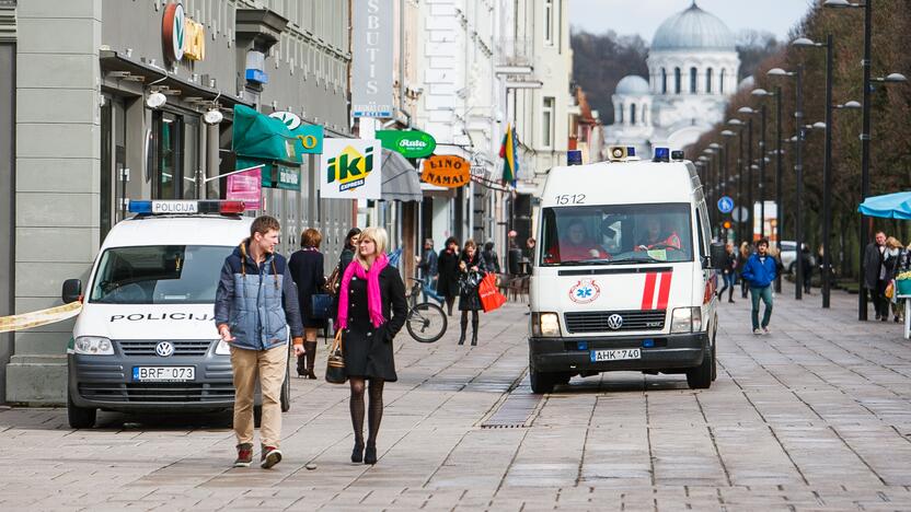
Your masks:
M661 23L651 39L653 50L729 50L735 51L734 34L717 16L696 5Z

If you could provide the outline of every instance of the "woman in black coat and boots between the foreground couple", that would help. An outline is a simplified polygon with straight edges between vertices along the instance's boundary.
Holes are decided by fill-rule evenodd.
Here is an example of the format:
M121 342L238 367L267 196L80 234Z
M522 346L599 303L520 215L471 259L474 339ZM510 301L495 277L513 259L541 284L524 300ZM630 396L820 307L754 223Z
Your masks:
M320 329L326 328L326 318L318 316L313 311L313 296L324 293L323 286L326 282L323 274L323 253L320 252L320 244L323 235L314 229L307 229L300 235L301 249L291 255L288 260L288 268L291 278L298 287L298 304L300 316L303 322L303 350L298 356L298 375L307 379L316 379L313 363L316 359L316 334Z

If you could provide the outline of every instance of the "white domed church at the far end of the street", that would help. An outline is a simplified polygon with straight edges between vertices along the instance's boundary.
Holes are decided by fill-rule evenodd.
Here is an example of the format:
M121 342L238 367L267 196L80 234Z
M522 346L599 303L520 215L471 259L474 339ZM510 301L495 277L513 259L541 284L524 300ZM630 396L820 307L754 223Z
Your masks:
M607 143L682 149L722 120L737 90L740 58L730 30L695 2L655 33L646 60L648 81L623 78L612 96L614 124Z

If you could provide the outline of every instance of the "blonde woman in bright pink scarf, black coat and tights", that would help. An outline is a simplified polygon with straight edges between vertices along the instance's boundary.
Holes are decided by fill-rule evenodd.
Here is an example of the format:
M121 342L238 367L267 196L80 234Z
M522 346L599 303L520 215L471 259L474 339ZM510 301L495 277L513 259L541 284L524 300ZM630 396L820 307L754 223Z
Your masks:
M367 228L360 233L355 260L342 276L338 292L338 328L345 371L351 386L351 426L355 447L351 462L377 463L377 434L383 416L383 384L399 380L392 356L392 338L405 324L408 307L405 284L385 257L387 233ZM364 443L364 392L370 381L367 445ZM366 447L366 451L365 451Z

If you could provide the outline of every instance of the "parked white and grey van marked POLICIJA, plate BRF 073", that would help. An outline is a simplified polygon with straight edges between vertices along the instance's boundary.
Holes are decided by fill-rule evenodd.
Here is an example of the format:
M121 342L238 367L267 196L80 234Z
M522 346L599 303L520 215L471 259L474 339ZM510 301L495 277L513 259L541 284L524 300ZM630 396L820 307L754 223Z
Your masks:
M240 201L130 201L135 216L107 234L84 288L64 283L64 302L83 304L67 349L71 427L93 427L99 409L233 406L214 307L224 258L250 236L243 210ZM282 410L289 403L286 375Z

